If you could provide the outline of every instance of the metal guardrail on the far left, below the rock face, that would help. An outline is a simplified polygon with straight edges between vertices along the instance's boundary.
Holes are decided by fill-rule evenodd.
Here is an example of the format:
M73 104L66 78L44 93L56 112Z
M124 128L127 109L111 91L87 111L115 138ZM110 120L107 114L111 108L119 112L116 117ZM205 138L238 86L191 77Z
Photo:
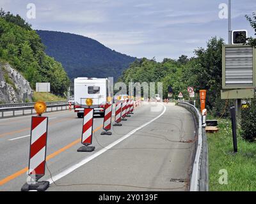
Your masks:
M15 116L15 112L20 111L20 110L22 110L22 113L19 114L19 115L29 115L29 113L25 113L25 110L31 110L30 114L32 115L33 113L35 113L35 112L33 112L34 104L35 103L33 103L33 105L30 105L30 106L18 106L18 107L4 107L4 108L0 108L1 118L4 118L4 117L14 117ZM58 103L58 104L48 104L47 105L47 109L51 108L51 110L50 111L46 110L46 112L58 111L58 107L60 107L60 110L63 110L63 107L65 107L64 110L67 110L68 102ZM52 108L56 108L56 110L52 110ZM12 112L12 115L4 116L5 112Z

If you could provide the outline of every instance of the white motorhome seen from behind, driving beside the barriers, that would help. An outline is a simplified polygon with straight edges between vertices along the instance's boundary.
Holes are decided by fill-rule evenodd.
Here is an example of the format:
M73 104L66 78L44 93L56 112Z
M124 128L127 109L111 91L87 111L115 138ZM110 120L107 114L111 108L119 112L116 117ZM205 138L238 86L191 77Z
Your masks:
M91 98L95 114L104 116L104 105L109 96L108 78L79 77L74 80L74 110L77 117L83 117L84 108L87 108L86 99Z

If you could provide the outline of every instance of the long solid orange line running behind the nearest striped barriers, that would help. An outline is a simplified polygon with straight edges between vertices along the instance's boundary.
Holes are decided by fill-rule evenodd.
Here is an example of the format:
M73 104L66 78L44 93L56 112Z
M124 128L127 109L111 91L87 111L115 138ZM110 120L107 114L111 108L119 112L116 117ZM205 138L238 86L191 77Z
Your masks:
M102 128L103 126L99 126L98 128L93 130L93 133L97 132L100 128ZM57 150L56 152L53 152L52 154L50 154L49 156L46 157L46 161L48 161L49 159L52 159L53 157L56 157L58 154L61 154L61 152L64 152L67 149L70 149L70 147L76 145L77 143L81 142L81 138L75 140L72 143L69 143L67 146ZM0 180L0 186L3 186L4 184L6 184L7 182L10 182L10 180L16 179L17 177L19 177L20 175L26 173L28 171L28 167L23 168L22 170L17 171L16 173L13 173L12 175L4 178L3 180Z

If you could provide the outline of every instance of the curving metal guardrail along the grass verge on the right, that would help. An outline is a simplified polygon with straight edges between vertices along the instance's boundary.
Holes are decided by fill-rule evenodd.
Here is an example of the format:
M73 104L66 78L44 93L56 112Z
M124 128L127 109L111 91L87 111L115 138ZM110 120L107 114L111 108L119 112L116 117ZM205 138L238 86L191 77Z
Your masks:
M208 147L205 128L202 127L202 116L198 109L189 103L179 101L178 105L193 114L198 135L193 154L194 162L189 191L209 191Z

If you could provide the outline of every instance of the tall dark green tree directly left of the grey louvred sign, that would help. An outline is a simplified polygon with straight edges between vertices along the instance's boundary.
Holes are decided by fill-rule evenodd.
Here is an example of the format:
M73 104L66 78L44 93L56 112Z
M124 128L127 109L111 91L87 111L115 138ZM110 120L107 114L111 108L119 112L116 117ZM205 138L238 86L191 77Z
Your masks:
M221 100L222 88L222 46L224 40L217 37L208 41L206 48L195 50L197 63L191 69L195 76L195 88L207 90L206 105L214 115L221 115L225 101Z

